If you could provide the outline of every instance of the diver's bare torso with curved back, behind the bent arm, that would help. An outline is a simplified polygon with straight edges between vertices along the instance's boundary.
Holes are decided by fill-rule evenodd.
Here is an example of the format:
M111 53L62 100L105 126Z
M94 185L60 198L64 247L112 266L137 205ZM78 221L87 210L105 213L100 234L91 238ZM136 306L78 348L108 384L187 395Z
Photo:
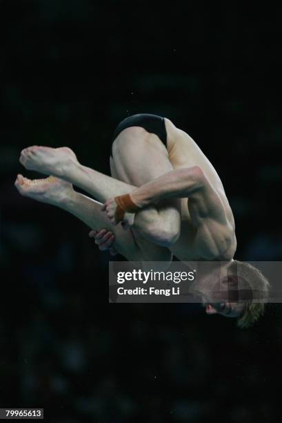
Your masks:
M192 218L188 209L189 198L181 198L181 234L179 239L170 250L177 259L181 261L192 261L192 260L219 260L229 261L234 256L236 250L236 236L235 236L235 225L232 210L228 203L228 199L225 196L222 182L216 170L212 166L208 158L205 157L201 149L198 147L196 142L192 138L178 129L170 120L165 119L165 127L168 133L168 156L174 169L181 169L183 167L199 166L204 171L205 176L208 177L210 185L218 194L226 214L226 225L223 225L220 231L212 230L212 223L210 224L210 232L213 237L224 237L225 242L223 249L216 253L212 252L201 252L201 239L206 236L207 225L201 227L193 225ZM209 229L209 228L208 228ZM219 241L216 239L215 241ZM227 242L226 242L227 241Z

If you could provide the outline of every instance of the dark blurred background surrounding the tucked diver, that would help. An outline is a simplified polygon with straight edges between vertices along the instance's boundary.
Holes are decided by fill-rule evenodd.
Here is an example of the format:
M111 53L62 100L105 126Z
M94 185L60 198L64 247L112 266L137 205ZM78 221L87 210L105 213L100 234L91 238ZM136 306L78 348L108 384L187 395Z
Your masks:
M114 127L156 113L219 172L236 259L279 261L281 10L271 3L6 0L1 16L0 406L46 421L277 422L281 307L250 330L174 304L108 304L108 253L19 196L23 147L109 173Z

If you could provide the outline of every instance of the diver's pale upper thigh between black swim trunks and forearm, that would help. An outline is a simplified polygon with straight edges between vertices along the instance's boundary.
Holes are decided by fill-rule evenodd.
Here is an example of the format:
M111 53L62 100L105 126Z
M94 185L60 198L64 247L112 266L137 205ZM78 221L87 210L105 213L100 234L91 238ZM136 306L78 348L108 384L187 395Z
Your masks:
M139 126L124 129L112 145L112 176L135 187L171 171L168 151L154 133Z

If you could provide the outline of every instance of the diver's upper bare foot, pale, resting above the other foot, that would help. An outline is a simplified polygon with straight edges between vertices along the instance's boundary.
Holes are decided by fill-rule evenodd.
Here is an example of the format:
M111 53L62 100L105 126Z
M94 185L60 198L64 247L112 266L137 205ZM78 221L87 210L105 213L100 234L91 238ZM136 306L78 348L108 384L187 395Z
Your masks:
M38 171L46 175L63 177L66 169L77 162L77 156L68 147L52 149L34 145L21 151L21 164L28 170Z

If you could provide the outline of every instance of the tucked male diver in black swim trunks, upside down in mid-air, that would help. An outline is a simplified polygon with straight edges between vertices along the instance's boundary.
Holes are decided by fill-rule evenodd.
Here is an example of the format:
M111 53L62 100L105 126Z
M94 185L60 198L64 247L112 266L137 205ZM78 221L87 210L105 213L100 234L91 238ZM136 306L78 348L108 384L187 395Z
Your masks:
M129 261L169 262L173 255L181 261L224 261L226 283L235 269L237 283L247 280L265 298L268 281L261 272L233 260L234 217L219 175L196 142L167 118L139 114L117 126L112 177L84 167L68 147L28 147L20 162L51 175L35 181L18 175L20 194L83 220L101 250L119 252ZM208 314L239 317L242 327L256 321L264 308L251 299L209 301L207 292L202 299Z

